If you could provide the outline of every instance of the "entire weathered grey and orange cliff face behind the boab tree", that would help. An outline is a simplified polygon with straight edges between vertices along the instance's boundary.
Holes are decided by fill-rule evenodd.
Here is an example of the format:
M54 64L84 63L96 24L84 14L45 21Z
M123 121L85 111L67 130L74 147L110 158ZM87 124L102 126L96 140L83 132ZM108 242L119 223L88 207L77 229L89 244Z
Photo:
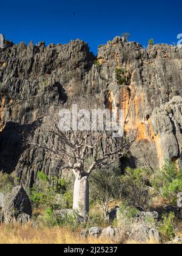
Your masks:
M166 44L143 49L116 37L99 46L98 61L99 67L80 40L0 49L0 170L16 171L29 186L38 171L59 175L59 164L27 148L24 138L46 110L78 98L122 108L126 132L138 130L123 166L155 168L166 157L182 166L182 49ZM126 69L126 85L118 85L116 68Z

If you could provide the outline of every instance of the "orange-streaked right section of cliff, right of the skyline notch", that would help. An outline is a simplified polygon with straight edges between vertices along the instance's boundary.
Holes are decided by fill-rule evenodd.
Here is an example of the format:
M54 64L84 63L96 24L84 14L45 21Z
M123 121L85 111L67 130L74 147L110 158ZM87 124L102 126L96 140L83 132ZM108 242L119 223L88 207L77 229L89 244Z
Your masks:
M124 111L125 130L137 129L138 137L132 146L132 166L154 168L163 162L164 157L180 159L180 149L173 140L172 149L167 154L169 142L161 138L151 122L153 110L181 96L182 51L166 44L157 44L143 49L140 44L126 42L116 37L105 46L99 47L98 59L102 63L101 77L107 80L110 105L119 105ZM127 85L117 85L115 68L125 68ZM173 100L176 101L177 98ZM178 102L180 98L178 98ZM174 104L175 118L181 124L180 106ZM170 116L168 114L168 119ZM172 123L169 121L169 124ZM160 125L160 124L159 124ZM154 124L155 126L155 124ZM167 126L167 124L166 124ZM170 134L172 127L167 127ZM179 129L178 129L179 130ZM164 131L165 132L165 131ZM172 136L172 134L171 134ZM180 134L178 132L178 137ZM163 143L161 142L163 140ZM164 146L167 144L167 147Z

